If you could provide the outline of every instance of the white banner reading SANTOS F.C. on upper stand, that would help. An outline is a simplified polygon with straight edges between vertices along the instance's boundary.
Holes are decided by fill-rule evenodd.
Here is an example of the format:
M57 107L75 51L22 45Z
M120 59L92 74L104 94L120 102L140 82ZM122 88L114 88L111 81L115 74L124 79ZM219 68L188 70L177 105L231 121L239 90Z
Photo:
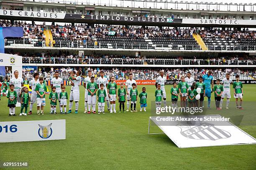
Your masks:
M182 24L256 25L256 20L182 19Z

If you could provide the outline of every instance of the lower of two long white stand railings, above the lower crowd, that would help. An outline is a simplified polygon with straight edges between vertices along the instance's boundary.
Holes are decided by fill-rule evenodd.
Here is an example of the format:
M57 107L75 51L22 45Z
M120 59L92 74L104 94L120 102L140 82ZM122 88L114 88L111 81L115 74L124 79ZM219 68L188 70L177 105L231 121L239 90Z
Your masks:
M92 65L211 65L211 66L241 66L241 65L256 65L256 60L177 60L177 59L82 59L82 58L34 58L34 57L23 57L23 64L92 64Z

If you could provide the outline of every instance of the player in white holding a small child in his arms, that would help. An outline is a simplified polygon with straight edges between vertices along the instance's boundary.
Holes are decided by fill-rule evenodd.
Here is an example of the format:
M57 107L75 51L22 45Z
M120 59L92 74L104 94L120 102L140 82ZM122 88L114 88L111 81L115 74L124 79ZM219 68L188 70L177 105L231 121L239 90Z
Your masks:
M80 70L78 70L77 73L76 73L76 75L77 75L76 77L74 77L72 75L72 71L69 72L69 74L70 74L70 77L73 80L72 85L74 87L73 87L73 95L71 95L69 97L69 111L68 111L68 113L72 112L73 100L74 100L75 105L76 105L75 113L78 113L79 97L80 97L79 85L81 83L81 76L80 75L82 74L82 72Z

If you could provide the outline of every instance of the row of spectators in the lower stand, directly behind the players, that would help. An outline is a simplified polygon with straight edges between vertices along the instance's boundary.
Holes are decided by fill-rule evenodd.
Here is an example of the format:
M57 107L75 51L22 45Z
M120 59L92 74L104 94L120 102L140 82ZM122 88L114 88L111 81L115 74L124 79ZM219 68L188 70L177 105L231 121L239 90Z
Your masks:
M38 72L40 75L46 77L46 80L51 80L54 77L54 72L59 71L61 77L63 80L67 80L69 77L69 72L72 70L81 70L83 77L87 75L88 70L92 70L93 76L99 77L100 76L100 70L105 71L105 76L109 79L110 75L114 75L116 80L123 80L128 79L128 75L130 72L133 73L134 78L136 80L156 80L156 77L159 76L159 71L161 69L159 68L100 68L100 67L38 67ZM225 74L227 72L230 73L231 79L235 80L236 75L240 75L241 79L253 79L256 78L256 70L241 70L239 68L225 68L225 69L204 69L204 68L166 68L164 70L165 76L167 80L180 80L182 75L186 75L187 72L191 72L192 77L194 77L196 80L201 75L204 75L207 73L208 70L212 71L212 75L214 79L223 79L225 77ZM33 78L33 72L28 72L26 70L23 70L23 77L27 77L28 80L31 80Z

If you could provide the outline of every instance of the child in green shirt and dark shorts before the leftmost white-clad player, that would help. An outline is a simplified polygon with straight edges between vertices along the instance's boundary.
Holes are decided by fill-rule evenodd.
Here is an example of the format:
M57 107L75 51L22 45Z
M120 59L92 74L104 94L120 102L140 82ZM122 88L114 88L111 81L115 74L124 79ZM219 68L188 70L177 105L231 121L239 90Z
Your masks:
M16 116L15 106L17 103L17 92L14 91L14 85L10 85L9 87L10 87L10 90L8 90L8 93L7 93L9 116Z

